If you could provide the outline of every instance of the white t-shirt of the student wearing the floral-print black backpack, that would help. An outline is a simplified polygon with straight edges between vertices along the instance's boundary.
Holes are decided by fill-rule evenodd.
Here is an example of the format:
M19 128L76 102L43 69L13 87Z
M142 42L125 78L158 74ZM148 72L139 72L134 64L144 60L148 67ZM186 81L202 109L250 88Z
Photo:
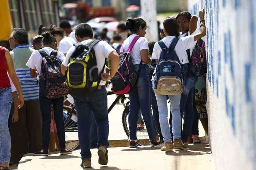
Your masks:
M46 52L46 54L48 54L48 55L50 55L51 52L53 51L53 49L51 47L44 47L43 49ZM58 51L56 57L60 62L62 62L65 58L65 55L62 52ZM39 75L41 74L42 61L43 61L43 58L42 58L41 54L38 52L38 50L36 50L36 51L33 51L33 53L31 54L31 56L28 59L28 62L26 64L26 66L28 66L29 68L37 70L37 72L38 72L37 80L39 80Z

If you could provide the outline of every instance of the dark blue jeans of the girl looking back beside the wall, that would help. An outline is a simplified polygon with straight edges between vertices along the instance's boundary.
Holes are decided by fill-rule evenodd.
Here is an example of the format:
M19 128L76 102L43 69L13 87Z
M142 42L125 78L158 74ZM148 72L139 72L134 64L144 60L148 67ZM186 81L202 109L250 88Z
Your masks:
M194 98L194 87L197 82L197 77L189 69L189 64L183 64L184 72L184 91L181 94L181 118L183 118L184 113L184 124L183 131L181 134L181 140L187 142L189 133L191 132L193 121L194 121L194 107L193 107L193 98ZM181 119L182 120L182 119Z

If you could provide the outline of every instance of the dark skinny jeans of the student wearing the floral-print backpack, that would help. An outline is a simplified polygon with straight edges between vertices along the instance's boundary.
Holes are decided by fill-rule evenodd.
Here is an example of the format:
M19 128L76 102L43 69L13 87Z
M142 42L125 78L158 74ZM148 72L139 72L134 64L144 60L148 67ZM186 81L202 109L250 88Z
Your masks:
M48 99L41 95L39 92L39 102L42 114L42 148L44 151L48 151L50 141L50 124L52 121L52 105L54 113L54 121L57 126L57 134L59 139L60 149L65 149L66 136L65 125L63 117L63 101L64 97L56 99Z

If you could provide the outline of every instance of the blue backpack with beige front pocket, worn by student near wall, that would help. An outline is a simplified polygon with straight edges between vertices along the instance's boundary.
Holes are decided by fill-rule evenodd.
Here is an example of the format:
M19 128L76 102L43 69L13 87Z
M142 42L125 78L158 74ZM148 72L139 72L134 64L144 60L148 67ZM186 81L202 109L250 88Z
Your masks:
M162 40L158 41L162 49L154 78L154 91L159 95L180 95L183 92L183 69L174 48L179 38L173 38L169 48Z

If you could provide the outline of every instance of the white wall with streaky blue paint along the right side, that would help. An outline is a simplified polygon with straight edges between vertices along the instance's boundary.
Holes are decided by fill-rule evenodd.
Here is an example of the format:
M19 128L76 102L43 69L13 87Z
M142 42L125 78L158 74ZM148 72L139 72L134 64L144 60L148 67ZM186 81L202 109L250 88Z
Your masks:
M210 142L217 169L256 169L256 2L188 0L205 8Z

